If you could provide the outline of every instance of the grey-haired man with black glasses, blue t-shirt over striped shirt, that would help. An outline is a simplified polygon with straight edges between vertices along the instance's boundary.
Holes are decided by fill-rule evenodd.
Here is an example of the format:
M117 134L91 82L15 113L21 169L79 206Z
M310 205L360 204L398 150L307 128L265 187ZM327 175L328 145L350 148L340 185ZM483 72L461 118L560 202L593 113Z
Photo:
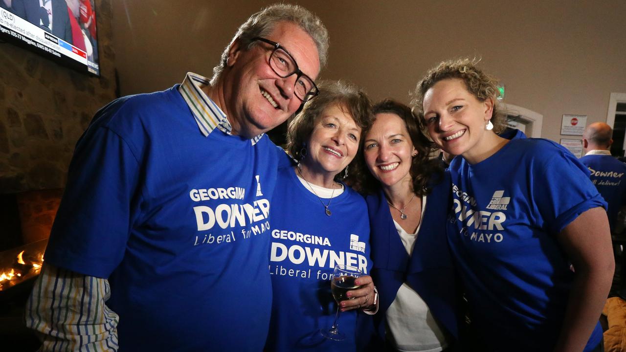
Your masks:
M261 351L271 298L264 135L317 94L328 34L279 4L208 80L102 108L76 145L26 311L42 351Z

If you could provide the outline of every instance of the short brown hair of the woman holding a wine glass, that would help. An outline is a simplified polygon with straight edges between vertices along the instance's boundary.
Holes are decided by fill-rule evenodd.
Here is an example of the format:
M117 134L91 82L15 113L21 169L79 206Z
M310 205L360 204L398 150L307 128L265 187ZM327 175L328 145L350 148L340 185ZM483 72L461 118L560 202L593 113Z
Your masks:
M317 83L319 95L304 103L300 111L289 122L287 127L287 152L295 158L302 160L302 148L305 148L316 123L322 112L329 106L338 105L342 111L347 112L352 117L356 125L361 128L361 138L359 138L359 148L356 160L361 154L363 131L369 128L372 123L372 104L367 94L357 86L345 81L320 81ZM348 165L350 174L354 168L354 160ZM340 172L341 173L341 172Z

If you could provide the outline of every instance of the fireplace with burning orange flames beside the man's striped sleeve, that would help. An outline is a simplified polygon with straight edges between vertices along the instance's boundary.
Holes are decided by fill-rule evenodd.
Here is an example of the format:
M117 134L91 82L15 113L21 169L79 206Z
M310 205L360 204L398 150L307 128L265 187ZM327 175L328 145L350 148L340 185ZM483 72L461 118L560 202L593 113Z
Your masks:
M41 269L62 189L0 195L0 339L11 351L36 351L24 307Z

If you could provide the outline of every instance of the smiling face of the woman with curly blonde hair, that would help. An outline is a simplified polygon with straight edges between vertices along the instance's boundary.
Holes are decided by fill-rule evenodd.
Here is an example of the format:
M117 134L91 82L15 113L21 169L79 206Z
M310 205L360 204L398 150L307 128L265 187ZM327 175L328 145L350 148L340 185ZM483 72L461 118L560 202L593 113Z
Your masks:
M493 100L478 100L463 80L435 83L424 94L424 122L433 142L452 155L471 160L491 148L485 125L493 113Z

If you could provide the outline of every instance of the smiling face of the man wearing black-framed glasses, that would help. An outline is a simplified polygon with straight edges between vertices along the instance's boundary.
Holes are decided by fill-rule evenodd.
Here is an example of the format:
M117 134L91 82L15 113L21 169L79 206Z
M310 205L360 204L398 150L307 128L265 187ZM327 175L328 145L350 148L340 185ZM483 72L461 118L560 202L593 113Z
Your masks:
M317 46L309 34L290 22L275 25L267 39L280 43L300 70L315 80L320 64ZM233 134L252 138L294 115L302 101L294 95L296 75L280 78L268 64L273 47L258 42L249 50L235 41L223 74L223 105Z

